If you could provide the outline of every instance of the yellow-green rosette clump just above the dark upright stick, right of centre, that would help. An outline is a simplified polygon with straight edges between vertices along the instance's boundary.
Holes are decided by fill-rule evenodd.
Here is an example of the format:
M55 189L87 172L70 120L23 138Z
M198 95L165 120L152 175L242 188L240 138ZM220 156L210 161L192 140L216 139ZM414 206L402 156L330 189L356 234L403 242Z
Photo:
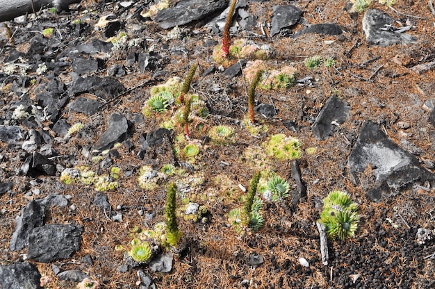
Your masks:
M291 138L283 133L272 135L268 142L263 143L268 156L278 160L295 160L302 156L302 143L296 138Z

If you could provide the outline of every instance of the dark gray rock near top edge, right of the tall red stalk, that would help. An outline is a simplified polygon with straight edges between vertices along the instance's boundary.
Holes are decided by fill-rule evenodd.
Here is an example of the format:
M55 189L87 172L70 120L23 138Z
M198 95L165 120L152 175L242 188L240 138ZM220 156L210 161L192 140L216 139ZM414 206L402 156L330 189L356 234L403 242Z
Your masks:
M274 36L282 28L288 28L296 24L302 15L302 10L293 5L275 5L272 13L272 28L270 36Z

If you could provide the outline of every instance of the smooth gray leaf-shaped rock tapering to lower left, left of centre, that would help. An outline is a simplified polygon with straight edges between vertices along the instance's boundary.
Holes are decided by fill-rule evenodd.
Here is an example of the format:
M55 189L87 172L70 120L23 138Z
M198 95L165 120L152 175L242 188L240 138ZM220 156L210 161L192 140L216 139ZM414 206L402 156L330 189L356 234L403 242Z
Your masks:
M95 144L95 149L104 150L112 147L116 142L122 142L129 129L129 124L124 115L113 113L110 115L107 130L99 137Z

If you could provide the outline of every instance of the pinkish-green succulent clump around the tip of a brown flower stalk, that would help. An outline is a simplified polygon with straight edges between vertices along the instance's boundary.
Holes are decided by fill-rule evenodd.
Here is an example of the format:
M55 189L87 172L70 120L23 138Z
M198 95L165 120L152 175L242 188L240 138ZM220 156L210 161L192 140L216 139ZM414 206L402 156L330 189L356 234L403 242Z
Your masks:
M266 90L280 90L290 88L296 83L297 69L291 65L280 67L279 69L270 68L263 60L249 61L245 69L245 80L253 81L258 74L263 71L259 82L259 87Z

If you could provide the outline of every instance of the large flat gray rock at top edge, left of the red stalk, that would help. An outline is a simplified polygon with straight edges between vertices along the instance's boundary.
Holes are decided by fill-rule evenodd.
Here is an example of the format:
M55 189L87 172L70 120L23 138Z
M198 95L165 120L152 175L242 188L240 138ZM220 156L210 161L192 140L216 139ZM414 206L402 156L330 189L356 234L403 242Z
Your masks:
M174 7L159 11L154 21L163 29L172 28L204 19L227 5L224 0L181 0Z

